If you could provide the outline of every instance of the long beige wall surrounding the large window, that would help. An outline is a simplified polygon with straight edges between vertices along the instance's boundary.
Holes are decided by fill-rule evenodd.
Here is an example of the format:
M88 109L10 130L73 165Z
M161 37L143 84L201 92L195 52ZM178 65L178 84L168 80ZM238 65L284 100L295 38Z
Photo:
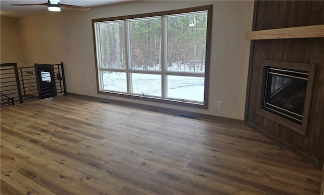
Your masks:
M91 19L213 4L209 109L98 95ZM25 64L64 62L67 91L148 105L244 119L253 1L137 1L19 19ZM217 100L223 101L221 108Z

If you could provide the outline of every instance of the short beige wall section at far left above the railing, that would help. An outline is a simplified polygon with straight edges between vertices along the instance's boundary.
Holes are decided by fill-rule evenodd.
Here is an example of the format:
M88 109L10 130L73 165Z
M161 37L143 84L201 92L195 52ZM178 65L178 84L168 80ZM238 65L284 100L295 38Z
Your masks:
M0 17L0 61L1 63L16 62L24 66L17 18Z

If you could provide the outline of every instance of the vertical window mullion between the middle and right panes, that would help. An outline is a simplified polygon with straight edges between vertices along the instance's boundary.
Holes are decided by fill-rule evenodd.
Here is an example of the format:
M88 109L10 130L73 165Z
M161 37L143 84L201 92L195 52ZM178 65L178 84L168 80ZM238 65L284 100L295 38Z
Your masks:
M162 88L162 98L168 96L168 84L167 84L167 20L166 16L161 17L161 88Z

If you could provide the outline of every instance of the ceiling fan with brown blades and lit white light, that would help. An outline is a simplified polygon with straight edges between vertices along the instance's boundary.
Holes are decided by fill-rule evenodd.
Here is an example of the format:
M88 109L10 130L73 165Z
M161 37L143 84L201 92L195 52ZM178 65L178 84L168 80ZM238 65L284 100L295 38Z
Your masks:
M61 8L68 8L68 9L80 10L80 11L89 10L89 8L82 7L82 6L60 4L60 0L49 0L47 3L43 3L43 4L12 4L12 6L47 6L48 10L53 12L59 12L61 11Z

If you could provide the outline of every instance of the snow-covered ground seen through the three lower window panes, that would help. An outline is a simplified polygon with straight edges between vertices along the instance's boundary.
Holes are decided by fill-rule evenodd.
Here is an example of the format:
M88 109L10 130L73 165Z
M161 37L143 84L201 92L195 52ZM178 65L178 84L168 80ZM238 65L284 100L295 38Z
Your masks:
M133 93L161 97L161 76L156 74L132 74ZM168 75L168 97L204 101L204 77ZM103 89L127 92L126 73L103 72Z

